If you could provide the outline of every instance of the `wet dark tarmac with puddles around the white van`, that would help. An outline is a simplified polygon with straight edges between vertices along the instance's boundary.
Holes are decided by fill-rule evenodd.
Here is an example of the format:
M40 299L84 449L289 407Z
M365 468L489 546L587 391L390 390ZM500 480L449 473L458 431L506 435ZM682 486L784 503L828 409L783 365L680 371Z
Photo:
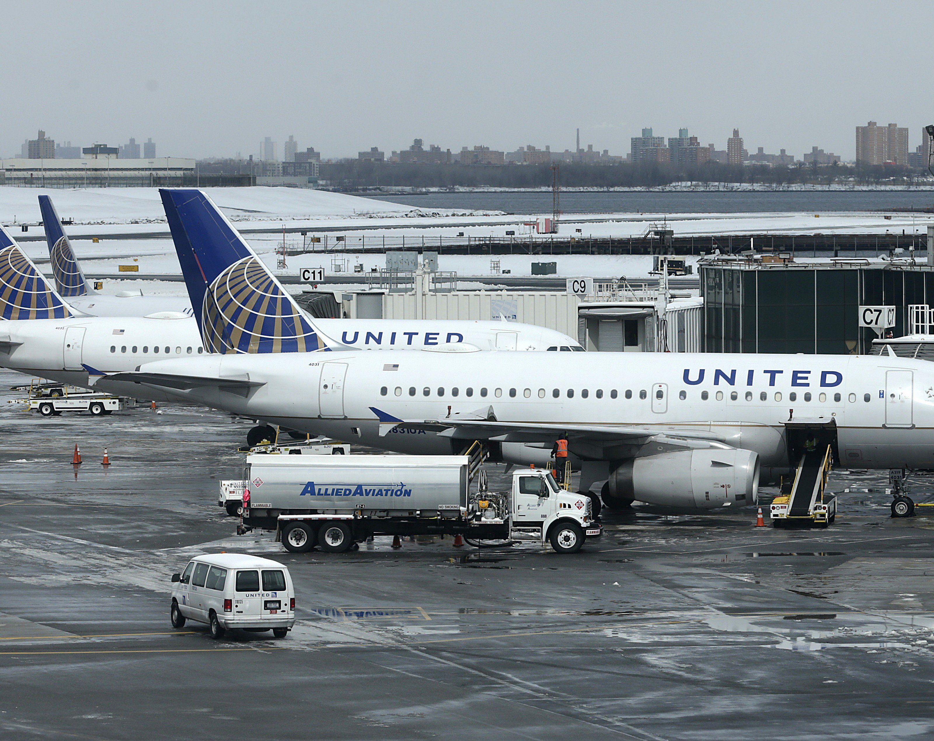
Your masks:
M885 472L831 474L827 530L639 510L573 556L290 554L217 506L248 422L42 419L7 404L21 381L0 373L0 738L934 735L934 517L890 519ZM288 637L171 628L170 575L218 551L289 566Z

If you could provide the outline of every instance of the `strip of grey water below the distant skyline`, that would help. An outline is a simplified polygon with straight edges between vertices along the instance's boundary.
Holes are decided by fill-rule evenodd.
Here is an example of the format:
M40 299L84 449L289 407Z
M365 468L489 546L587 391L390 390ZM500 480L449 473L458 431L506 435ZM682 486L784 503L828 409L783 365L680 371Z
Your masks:
M508 214L550 214L550 192L424 193L367 198L417 208L483 209ZM835 190L741 192L569 192L561 193L563 214L743 214L761 212L883 211L934 206L930 190Z

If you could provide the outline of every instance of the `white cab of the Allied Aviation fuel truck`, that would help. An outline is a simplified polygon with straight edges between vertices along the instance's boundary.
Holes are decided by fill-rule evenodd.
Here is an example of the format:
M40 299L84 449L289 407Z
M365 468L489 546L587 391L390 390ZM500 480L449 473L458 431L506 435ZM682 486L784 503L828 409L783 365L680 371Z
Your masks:
M590 497L561 489L549 471L517 470L511 498L513 529L540 531L542 544L550 541L559 553L577 552L585 538L601 535Z

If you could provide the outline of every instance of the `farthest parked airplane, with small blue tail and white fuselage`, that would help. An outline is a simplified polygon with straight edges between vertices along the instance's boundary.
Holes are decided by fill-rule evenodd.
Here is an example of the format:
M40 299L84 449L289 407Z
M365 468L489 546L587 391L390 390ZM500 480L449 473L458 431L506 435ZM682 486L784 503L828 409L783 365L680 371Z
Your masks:
M49 196L39 196L39 209L49 243L55 286L72 308L89 316L146 316L157 312L192 315L187 296L144 296L138 288L108 296L89 288Z

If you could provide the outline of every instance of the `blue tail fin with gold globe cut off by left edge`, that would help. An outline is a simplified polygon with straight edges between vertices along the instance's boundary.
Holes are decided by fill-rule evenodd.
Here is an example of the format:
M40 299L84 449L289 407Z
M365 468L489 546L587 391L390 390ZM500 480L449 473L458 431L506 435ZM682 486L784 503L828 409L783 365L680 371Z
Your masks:
M74 315L45 275L0 226L0 316L66 319Z

